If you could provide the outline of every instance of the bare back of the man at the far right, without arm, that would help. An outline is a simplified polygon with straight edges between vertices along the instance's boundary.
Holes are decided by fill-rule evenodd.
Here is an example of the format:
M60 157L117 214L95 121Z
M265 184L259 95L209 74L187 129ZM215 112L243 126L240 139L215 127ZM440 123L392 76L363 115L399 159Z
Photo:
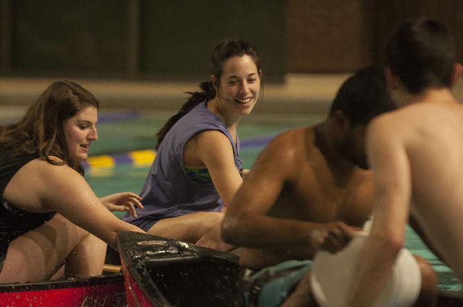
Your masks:
M410 162L415 221L463 280L463 106L446 91L438 96L433 92L424 102L379 121L388 121L390 138L404 148Z

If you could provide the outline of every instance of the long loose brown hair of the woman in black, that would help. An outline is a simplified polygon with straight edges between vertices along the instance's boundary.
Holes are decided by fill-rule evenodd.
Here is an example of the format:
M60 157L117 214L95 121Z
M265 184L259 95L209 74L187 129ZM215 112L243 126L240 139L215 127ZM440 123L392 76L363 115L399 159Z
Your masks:
M79 161L69 156L63 124L87 106L98 108L99 104L91 92L79 84L57 81L28 108L23 119L1 128L0 150L10 149L15 155L39 155L50 164L67 164L84 175Z

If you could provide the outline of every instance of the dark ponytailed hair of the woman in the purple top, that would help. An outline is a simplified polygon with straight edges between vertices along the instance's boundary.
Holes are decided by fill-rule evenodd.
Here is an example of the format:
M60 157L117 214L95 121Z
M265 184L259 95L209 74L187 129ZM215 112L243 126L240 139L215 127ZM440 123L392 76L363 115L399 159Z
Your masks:
M259 64L257 48L252 45L252 43L249 43L249 41L245 39L225 39L218 43L212 52L210 63L211 75L216 77L216 84L212 84L211 81L204 81L200 83L201 92L187 92L191 97L183 104L180 111L178 111L176 115L173 115L156 134L156 137L158 137L158 143L156 143L155 147L156 150L158 150L167 132L169 132L179 119L195 106L198 106L202 101L209 101L216 97L216 89L214 86L218 87L220 84L220 77L222 77L223 74L223 65L225 61L231 57L243 57L243 55L249 55L249 57L252 58L254 64L256 64L257 71L260 73L261 66Z

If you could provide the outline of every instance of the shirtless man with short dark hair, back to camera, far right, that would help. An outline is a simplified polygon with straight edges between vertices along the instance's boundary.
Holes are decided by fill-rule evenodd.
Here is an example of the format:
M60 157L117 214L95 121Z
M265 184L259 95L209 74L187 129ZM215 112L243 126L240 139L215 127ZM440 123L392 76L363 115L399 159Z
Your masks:
M402 26L386 50L388 90L399 109L373 120L366 151L375 211L344 306L371 306L390 277L413 214L424 239L463 281L463 106L451 88L462 75L442 23Z

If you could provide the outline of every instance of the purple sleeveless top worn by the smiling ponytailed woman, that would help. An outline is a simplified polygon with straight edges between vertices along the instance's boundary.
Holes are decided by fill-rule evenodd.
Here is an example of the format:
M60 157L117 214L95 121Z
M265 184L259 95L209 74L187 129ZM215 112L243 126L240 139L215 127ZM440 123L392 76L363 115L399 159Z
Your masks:
M140 193L144 209L137 210L136 218L126 213L124 221L148 230L159 219L199 211L218 212L223 208L214 184L198 183L188 177L184 169L185 144L193 135L205 130L218 130L228 137L236 169L241 168L238 137L235 144L223 121L207 110L207 102L202 102L167 132Z

